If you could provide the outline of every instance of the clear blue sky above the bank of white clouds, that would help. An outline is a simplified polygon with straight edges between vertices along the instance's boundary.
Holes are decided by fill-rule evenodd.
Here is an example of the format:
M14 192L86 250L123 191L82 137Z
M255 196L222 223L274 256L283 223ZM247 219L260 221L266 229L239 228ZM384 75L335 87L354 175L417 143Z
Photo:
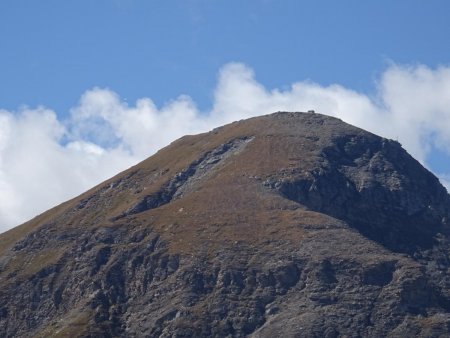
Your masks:
M311 79L370 92L386 63L449 62L448 1L2 0L0 106L66 113L109 87L211 105L218 69L268 87Z

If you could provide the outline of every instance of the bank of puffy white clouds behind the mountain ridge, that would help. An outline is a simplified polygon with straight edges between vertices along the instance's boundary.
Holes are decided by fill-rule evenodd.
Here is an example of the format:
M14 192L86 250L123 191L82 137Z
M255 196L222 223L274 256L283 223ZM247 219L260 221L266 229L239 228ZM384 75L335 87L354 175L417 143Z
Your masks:
M73 197L185 135L279 110L334 115L398 139L422 163L433 147L450 153L450 68L391 65L374 97L312 82L265 88L253 71L225 65L213 108L180 96L163 107L128 105L109 89L84 93L71 117L49 109L0 110L0 231ZM449 182L450 173L440 175ZM447 185L448 186L448 185Z

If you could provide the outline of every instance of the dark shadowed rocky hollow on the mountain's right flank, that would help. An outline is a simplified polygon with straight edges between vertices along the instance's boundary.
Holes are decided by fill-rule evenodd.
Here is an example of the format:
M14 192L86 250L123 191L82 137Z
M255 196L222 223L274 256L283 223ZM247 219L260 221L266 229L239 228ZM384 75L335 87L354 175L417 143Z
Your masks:
M345 135L321 156L322 165L307 175L275 181L283 196L396 252L430 249L438 232L447 233L447 191L399 143Z

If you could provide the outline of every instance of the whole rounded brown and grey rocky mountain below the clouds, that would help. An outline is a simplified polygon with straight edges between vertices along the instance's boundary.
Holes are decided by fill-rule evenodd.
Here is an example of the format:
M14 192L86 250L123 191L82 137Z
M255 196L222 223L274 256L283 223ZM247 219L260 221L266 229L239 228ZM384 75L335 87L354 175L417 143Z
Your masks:
M235 122L2 234L0 336L449 336L449 210L395 141Z

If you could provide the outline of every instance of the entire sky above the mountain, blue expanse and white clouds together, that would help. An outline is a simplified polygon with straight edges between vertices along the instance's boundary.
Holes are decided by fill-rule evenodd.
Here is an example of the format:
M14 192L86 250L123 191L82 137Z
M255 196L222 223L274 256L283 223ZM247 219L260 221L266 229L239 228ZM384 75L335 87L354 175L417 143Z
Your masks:
M0 231L182 134L270 109L398 138L448 185L448 13L444 0L2 0Z

